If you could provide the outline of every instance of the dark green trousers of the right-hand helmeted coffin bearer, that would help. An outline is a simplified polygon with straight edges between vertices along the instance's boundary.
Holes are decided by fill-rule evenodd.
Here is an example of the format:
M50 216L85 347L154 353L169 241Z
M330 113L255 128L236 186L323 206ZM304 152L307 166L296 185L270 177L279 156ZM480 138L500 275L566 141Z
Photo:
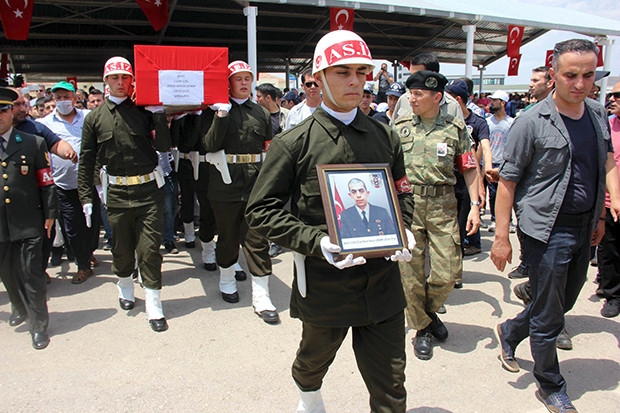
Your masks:
M220 267L230 267L239 257L239 245L243 248L248 269L252 275L262 277L271 274L269 242L255 231L248 229L245 220L247 202L216 202L211 200L218 228L215 260Z

